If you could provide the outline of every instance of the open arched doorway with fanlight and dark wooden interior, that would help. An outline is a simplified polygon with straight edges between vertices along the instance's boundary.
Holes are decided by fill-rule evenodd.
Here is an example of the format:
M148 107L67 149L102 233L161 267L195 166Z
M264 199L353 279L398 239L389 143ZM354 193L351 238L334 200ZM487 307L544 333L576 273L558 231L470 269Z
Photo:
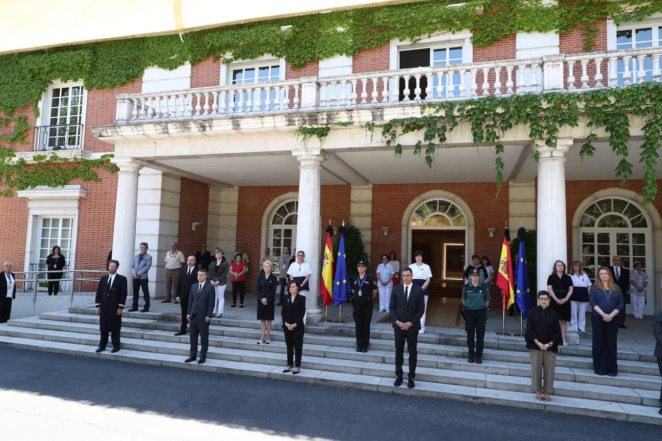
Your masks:
M414 251L423 251L432 269L433 296L459 296L469 249L467 212L456 198L432 196L419 201L408 216L408 254L402 261L413 262Z

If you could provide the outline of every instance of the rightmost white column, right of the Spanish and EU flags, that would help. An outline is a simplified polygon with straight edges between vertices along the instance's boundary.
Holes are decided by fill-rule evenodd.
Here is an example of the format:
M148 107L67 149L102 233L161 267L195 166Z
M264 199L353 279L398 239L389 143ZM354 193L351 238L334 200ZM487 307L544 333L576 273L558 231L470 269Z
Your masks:
M538 291L547 290L547 277L554 261L567 264L567 229L565 225L565 153L573 145L571 139L559 139L550 149L545 141L538 145L538 227L537 262Z

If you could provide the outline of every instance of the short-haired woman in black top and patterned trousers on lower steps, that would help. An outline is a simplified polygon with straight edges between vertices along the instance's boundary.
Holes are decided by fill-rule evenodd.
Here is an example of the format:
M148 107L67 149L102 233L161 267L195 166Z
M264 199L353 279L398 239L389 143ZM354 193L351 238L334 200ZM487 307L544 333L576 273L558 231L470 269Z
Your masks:
M545 401L551 401L554 388L554 369L556 353L561 337L561 325L556 311L549 307L551 296L547 291L538 292L538 306L532 307L526 318L526 348L531 360L531 387L536 393L536 399L541 401L542 392ZM544 378L544 383L543 383Z

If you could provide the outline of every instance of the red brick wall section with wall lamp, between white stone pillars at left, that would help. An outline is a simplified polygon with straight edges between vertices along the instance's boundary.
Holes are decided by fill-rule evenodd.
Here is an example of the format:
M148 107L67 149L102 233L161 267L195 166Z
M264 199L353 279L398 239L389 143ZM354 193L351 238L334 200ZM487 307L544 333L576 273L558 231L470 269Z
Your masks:
M177 243L186 257L200 251L200 245L207 243L207 207L209 206L209 185L197 180L181 179L179 202L179 230ZM193 222L202 222L191 231ZM207 248L214 252L211 247Z

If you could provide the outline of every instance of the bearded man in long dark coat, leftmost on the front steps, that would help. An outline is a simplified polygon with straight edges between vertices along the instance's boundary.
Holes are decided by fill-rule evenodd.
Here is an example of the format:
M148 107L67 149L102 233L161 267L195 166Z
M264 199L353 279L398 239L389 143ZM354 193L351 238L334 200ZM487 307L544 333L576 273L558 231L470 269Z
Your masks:
M128 294L128 284L126 277L117 274L117 268L120 266L118 261L108 263L108 274L99 280L97 286L97 310L99 315L99 331L101 331L101 340L97 352L106 349L108 344L108 334L111 333L111 342L113 350L120 350L120 329L122 329L122 311L126 304L126 295Z

